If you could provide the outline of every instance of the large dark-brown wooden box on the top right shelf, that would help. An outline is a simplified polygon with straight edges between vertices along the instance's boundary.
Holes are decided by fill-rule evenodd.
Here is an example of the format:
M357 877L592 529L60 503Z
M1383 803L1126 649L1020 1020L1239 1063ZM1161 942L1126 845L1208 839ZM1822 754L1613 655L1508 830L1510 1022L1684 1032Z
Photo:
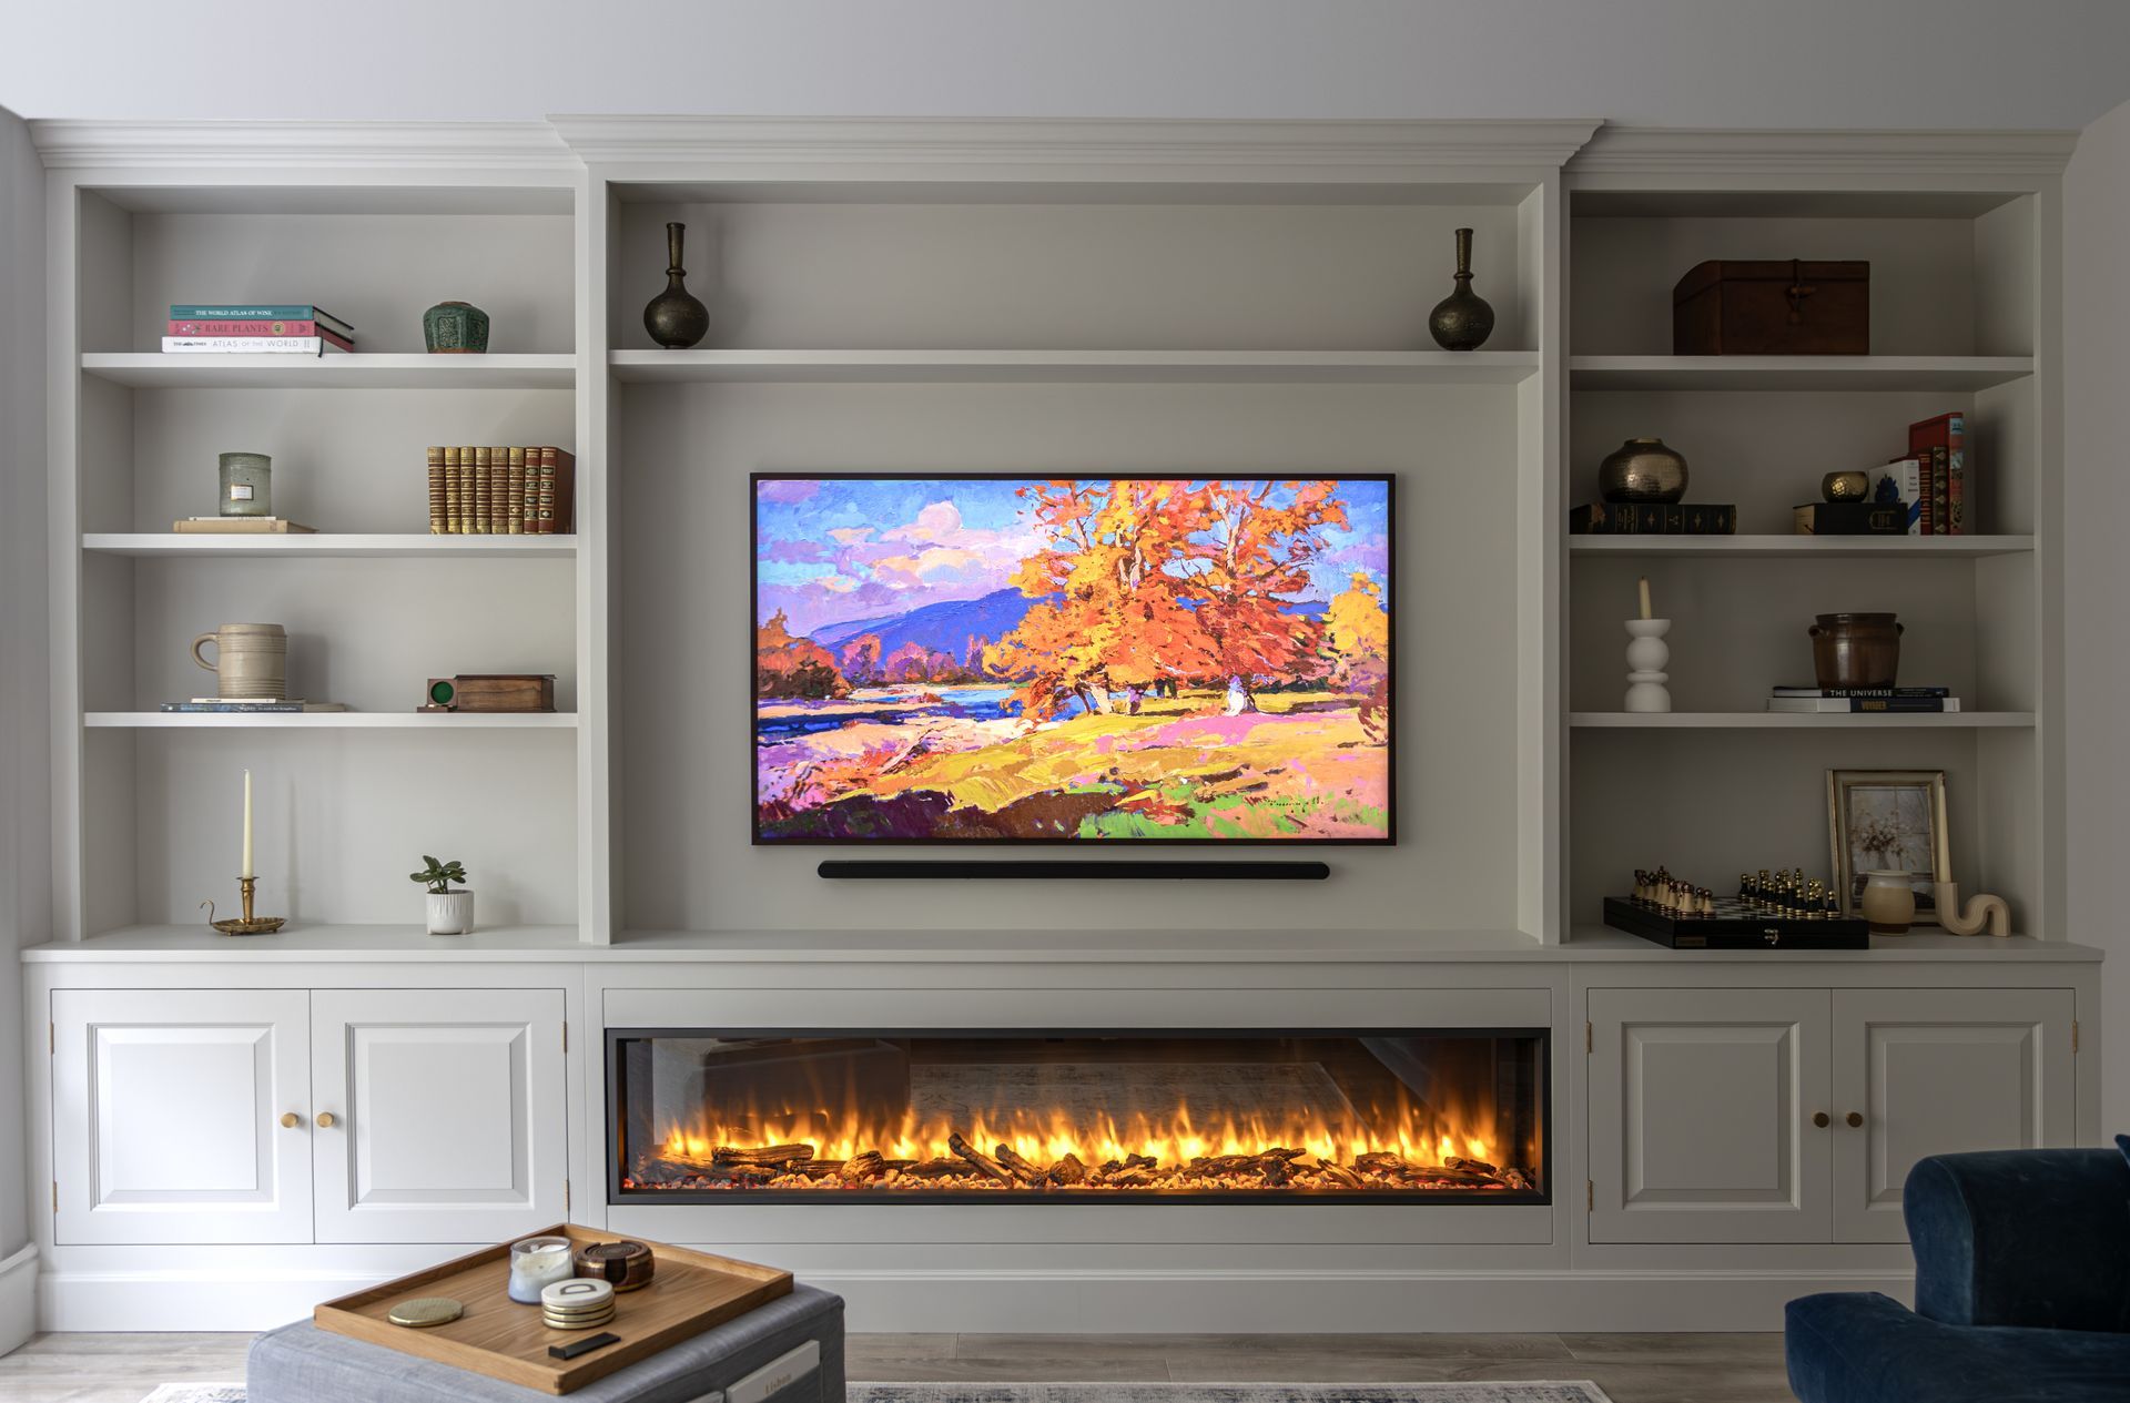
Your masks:
M1695 264L1672 287L1672 356L1870 356L1870 264Z

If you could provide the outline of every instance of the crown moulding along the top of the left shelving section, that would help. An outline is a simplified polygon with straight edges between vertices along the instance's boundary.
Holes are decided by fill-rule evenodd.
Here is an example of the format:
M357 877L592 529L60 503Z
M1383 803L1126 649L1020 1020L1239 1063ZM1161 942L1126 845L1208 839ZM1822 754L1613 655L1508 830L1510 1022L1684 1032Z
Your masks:
M581 166L545 121L32 121L47 170L181 166L390 170Z

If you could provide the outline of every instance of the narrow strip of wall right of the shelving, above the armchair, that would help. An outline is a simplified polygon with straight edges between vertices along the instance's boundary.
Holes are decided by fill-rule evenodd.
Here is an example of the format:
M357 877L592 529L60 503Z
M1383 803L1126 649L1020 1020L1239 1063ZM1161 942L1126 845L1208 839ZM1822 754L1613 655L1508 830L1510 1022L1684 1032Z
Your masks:
M2121 468L2124 328L2130 328L2130 104L2085 128L2064 177L2064 639L2070 781L2070 928L2107 945L2102 1111L2130 1130L2130 477Z

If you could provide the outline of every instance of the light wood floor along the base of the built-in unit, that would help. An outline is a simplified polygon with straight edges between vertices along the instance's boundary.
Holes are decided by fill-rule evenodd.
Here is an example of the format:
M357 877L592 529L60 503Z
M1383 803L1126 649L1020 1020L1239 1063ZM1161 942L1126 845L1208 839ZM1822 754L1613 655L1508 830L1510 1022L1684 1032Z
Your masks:
M138 1403L234 1382L247 1335L38 1335L0 1403ZM852 1380L1593 1380L1615 1403L1789 1403L1781 1335L852 1335Z

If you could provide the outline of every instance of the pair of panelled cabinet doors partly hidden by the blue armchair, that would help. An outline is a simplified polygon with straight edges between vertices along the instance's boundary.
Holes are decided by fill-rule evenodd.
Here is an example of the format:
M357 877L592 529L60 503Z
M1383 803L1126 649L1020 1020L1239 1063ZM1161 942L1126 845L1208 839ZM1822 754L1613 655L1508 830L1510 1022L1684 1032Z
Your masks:
M1906 1241L1928 1154L2072 1143L2075 994L1600 988L1593 1243Z

